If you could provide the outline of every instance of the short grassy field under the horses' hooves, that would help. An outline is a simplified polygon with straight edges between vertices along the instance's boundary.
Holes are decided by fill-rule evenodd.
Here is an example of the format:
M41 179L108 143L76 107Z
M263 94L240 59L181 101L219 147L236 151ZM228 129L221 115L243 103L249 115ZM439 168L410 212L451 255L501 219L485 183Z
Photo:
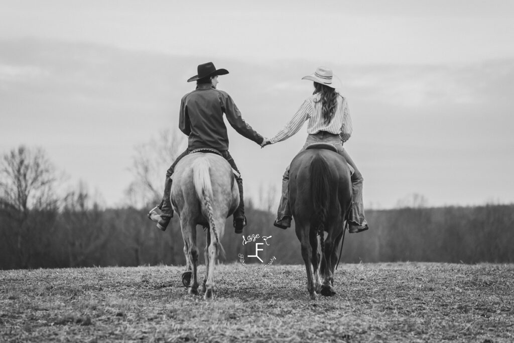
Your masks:
M514 265L340 265L337 295L316 301L303 265L219 265L211 302L188 295L181 272L0 270L0 340L514 341Z

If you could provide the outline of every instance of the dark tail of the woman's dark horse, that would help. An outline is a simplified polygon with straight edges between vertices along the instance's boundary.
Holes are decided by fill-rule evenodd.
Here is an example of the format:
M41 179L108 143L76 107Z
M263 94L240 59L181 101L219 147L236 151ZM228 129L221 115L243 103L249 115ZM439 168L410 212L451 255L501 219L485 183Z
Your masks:
M325 158L315 155L310 164L310 194L314 205L313 224L319 232L324 230L330 204L330 175L331 171Z

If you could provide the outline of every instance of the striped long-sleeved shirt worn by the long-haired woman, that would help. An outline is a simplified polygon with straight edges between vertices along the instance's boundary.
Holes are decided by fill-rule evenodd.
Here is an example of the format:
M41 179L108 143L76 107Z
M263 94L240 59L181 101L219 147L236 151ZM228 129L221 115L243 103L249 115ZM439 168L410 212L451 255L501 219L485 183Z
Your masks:
M341 95L337 97L336 113L332 120L325 124L320 97L320 93L308 97L285 127L270 139L270 143L273 144L291 137L300 130L306 120L309 121L308 134L326 131L335 135L339 134L342 141L347 141L352 135L352 118L346 99Z

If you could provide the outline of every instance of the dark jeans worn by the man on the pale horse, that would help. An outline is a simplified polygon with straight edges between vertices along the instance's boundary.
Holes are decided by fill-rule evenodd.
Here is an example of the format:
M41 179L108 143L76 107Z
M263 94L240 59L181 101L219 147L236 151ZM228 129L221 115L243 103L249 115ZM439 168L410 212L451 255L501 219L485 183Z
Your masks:
M190 153L189 149L186 149L186 151L182 152L178 157L175 159L173 164L170 166L168 171L166 172L166 181L164 182L164 195L162 196L162 201L160 205L161 215L164 216L171 216L171 213L173 213L173 209L171 207L170 202L170 191L171 191L171 176L173 175L175 171L175 166L177 163L182 159L182 157L188 155ZM228 152L228 150L220 151L222 156L228 161L232 169L234 169L238 175L235 175L235 182L237 183L237 188L239 189L239 207L234 212L234 218L237 217L243 217L245 215L245 204L243 202L243 178L241 178L241 173L237 169L237 166L235 165L235 161Z

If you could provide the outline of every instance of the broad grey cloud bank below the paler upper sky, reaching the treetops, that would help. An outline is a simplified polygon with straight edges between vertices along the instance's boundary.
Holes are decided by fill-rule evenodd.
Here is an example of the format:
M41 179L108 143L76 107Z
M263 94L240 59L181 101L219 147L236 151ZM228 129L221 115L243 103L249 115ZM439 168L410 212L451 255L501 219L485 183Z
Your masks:
M132 180L127 167L135 146L177 126L180 98L194 89L186 80L206 61L99 44L0 41L0 149L42 146L57 166L115 204ZM263 135L281 129L311 94L312 84L301 78L317 66L302 60L213 62L230 71L220 77L219 88ZM354 136L346 146L365 175L366 202L394 206L412 192L433 205L514 194L507 176L488 179L473 192L467 186L491 169L514 173L513 60L329 66L349 99ZM247 194L262 185L280 187L305 135L302 129L260 149L229 128L230 152ZM476 154L481 162L470 169ZM451 170L443 177L446 169ZM456 179L466 189L458 189ZM514 200L502 197L507 199Z

